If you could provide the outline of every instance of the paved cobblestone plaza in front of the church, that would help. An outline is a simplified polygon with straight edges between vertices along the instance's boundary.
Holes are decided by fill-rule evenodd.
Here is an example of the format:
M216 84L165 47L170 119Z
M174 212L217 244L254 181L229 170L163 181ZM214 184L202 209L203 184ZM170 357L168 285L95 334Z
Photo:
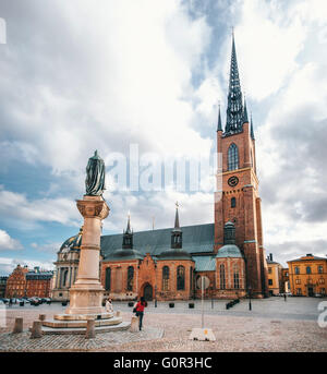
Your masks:
M318 304L327 299L269 298L242 300L231 310L226 301L204 302L205 327L211 328L216 341L192 341L189 336L193 327L201 327L201 300L195 307L189 302L149 303L144 316L144 329L137 333L111 331L97 334L95 339L75 336L43 336L31 339L28 327L39 314L52 317L65 309L61 303L7 309L5 327L0 328L0 351L113 351L113 352L306 352L327 351L327 327L319 327ZM193 302L193 301L192 301ZM113 302L123 321L132 317L128 302ZM214 307L213 307L214 306ZM24 333L12 335L14 318L24 318Z

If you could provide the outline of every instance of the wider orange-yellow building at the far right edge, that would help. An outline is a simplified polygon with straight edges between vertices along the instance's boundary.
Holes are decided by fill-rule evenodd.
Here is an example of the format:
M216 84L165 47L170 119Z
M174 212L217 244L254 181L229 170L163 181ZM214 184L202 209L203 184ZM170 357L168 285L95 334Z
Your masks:
M313 254L288 261L291 292L294 295L326 295L327 257Z

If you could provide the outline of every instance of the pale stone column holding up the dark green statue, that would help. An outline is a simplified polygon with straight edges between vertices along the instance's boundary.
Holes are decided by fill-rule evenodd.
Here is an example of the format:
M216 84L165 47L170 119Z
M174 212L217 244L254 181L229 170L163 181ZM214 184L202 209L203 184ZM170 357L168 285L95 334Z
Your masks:
M84 195L77 201L84 217L77 279L70 289L66 314L104 313L104 287L99 281L101 220L109 215L109 207L101 196Z

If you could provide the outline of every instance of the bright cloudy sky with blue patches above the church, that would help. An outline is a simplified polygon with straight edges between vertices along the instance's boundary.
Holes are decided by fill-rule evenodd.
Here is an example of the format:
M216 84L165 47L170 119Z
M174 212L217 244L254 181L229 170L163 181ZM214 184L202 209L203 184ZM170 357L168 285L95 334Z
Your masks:
M327 255L325 0L1 0L0 17L0 275L52 268L82 225L75 200L95 149L107 166L105 234L121 232L129 210L135 231L153 217L170 227L175 201L182 225L213 221L210 191L113 189L112 159L131 145L159 160L215 149L232 26L266 252L282 265Z

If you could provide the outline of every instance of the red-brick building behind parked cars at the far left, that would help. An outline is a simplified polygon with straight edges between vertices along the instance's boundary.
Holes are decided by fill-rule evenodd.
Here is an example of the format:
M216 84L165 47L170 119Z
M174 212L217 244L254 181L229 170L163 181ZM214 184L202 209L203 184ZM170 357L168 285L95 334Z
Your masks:
M52 272L40 272L39 267L28 270L17 265L8 278L5 298L49 298L52 276Z

